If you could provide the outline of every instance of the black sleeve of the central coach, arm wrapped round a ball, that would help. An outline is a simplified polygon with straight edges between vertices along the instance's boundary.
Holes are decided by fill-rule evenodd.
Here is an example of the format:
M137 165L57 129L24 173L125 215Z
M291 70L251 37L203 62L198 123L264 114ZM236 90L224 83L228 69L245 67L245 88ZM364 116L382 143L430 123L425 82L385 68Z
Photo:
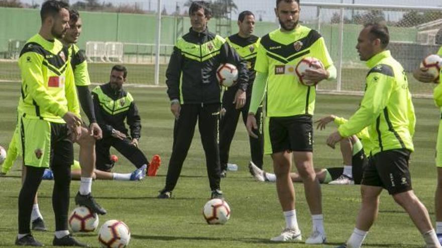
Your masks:
M228 42L225 42L220 50L220 58L223 63L235 65L238 70L238 87L244 92L249 86L249 74L247 70L247 62L233 49Z

